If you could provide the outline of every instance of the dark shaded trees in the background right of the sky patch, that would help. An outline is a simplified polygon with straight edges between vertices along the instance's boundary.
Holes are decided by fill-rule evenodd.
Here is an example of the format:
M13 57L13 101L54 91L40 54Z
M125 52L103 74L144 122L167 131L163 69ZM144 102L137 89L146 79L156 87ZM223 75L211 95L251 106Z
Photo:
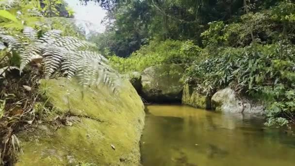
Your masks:
M107 48L120 57L129 56L150 40L201 44L199 35L208 22L239 16L243 7L240 0L93 1L108 11L107 30L94 40L100 50Z

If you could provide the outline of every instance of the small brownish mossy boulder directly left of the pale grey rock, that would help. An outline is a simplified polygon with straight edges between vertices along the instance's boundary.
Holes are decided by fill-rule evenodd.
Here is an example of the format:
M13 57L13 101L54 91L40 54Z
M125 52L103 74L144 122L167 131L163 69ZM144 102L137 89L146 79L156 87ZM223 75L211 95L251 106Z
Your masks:
M189 84L185 84L183 87L182 104L187 104L196 108L210 109L211 99Z

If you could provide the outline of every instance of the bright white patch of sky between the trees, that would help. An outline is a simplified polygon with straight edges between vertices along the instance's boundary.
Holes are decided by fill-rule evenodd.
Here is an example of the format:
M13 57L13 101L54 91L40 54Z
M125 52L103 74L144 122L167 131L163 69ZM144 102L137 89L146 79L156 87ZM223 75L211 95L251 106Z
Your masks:
M75 11L75 18L78 22L87 26L86 34L89 31L102 33L105 31L105 26L101 20L106 16L106 11L94 2L88 2L87 6L81 5L79 0L65 0L68 5Z

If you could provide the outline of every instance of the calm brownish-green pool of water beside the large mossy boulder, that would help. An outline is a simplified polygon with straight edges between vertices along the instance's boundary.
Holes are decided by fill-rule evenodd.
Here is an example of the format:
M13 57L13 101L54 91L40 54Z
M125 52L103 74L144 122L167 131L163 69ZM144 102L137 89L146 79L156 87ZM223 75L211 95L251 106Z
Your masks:
M295 166L295 137L249 115L150 105L143 166Z

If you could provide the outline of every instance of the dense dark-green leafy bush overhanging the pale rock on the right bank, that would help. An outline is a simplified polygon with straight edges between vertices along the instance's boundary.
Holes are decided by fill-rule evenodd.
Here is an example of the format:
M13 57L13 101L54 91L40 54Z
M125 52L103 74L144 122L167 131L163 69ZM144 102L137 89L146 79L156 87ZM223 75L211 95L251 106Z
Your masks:
M267 116L272 124L279 116L295 122L294 45L252 44L246 48L224 48L214 56L195 61L187 68L183 81L197 84L208 93L230 85L262 100L268 106Z

